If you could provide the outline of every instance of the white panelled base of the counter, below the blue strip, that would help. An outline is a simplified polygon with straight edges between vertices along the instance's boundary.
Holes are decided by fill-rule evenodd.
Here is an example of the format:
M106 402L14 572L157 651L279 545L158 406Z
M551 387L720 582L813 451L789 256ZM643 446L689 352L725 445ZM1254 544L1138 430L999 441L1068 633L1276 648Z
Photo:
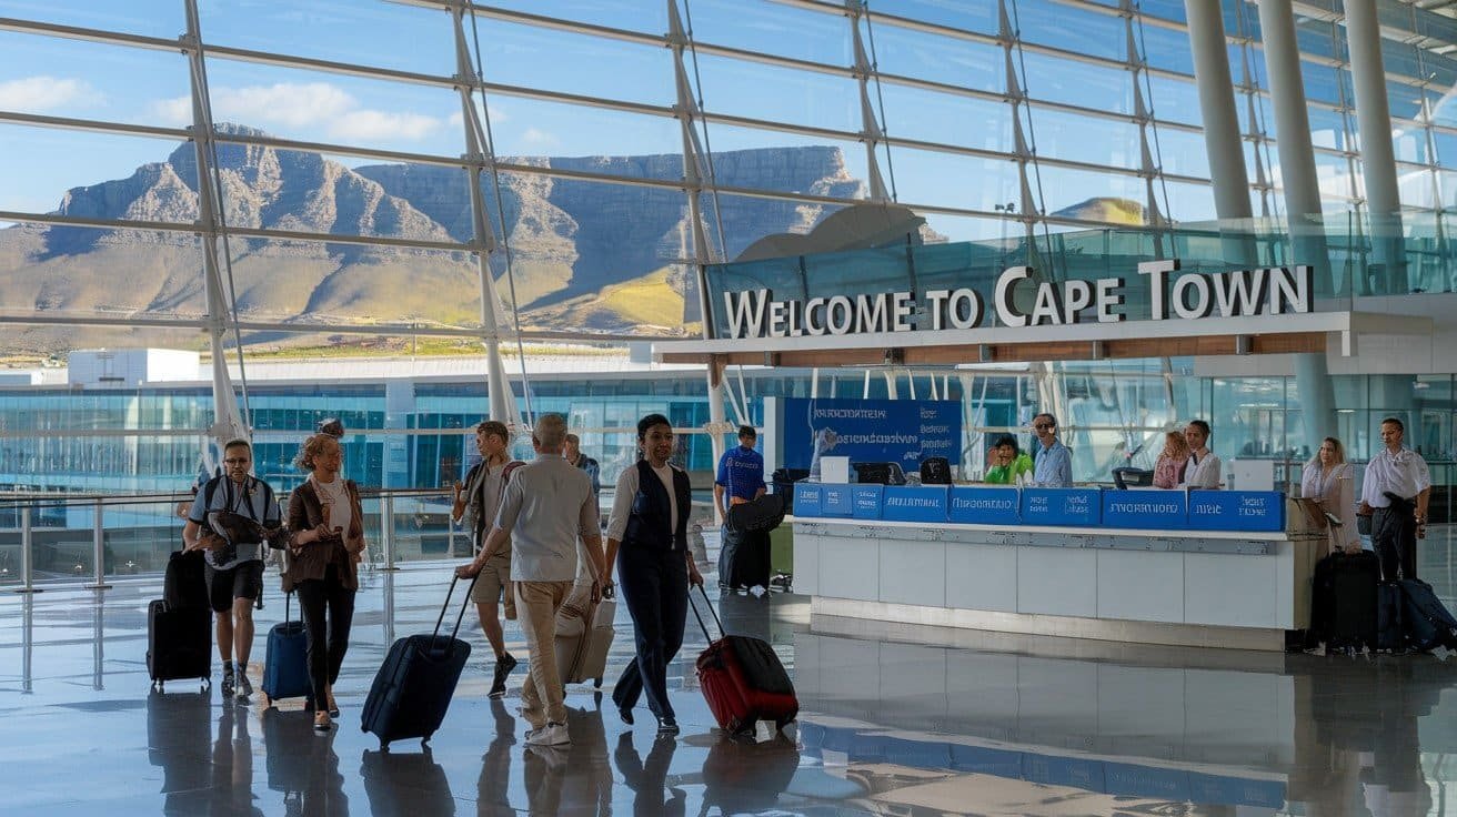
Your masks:
M796 520L794 584L812 615L1284 650L1285 631L1308 625L1323 546L1288 533Z

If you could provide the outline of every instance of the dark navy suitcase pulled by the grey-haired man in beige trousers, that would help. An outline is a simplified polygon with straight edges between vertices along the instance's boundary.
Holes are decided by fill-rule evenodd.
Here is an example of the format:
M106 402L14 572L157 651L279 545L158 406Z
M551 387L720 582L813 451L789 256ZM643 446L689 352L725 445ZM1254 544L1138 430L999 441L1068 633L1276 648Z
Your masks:
M440 606L434 632L411 635L392 644L385 663L374 674L374 684L364 699L360 730L374 733L380 750L389 749L390 741L417 737L425 744L446 719L446 709L455 696L460 670L471 657L471 645L456 638L465 609L471 606L469 588L456 616L455 629L449 636L440 635L457 583L459 580L452 575L450 590L446 591L446 601ZM471 580L471 587L475 587L475 580Z

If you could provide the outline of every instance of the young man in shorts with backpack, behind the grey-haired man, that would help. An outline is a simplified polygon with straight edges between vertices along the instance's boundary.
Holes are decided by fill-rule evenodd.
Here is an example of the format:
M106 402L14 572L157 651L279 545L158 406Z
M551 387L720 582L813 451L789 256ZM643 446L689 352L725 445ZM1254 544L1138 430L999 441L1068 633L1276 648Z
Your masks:
M511 460L508 453L510 430L504 422L494 419L482 421L475 427L475 447L481 451L481 462L466 473L465 484L455 484L455 504L450 517L471 526L471 540L479 550L485 542L485 534L495 524L495 514L501 507L501 494L511 473L526 463ZM511 548L510 543L501 548L495 556L485 562L481 578L476 580L471 599L475 610L481 616L481 629L485 639L491 642L495 652L495 679L491 682L491 698L506 696L506 677L516 668L516 658L506 651L506 636L501 628L500 606L506 606L506 617L516 619L516 596L511 593Z

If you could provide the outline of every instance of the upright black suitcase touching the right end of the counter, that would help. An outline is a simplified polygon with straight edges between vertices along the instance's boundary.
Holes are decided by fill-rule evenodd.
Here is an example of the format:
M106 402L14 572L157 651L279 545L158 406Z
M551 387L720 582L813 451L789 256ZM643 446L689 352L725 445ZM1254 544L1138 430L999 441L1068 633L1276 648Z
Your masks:
M1332 553L1316 564L1311 626L1327 650L1377 648L1375 553Z

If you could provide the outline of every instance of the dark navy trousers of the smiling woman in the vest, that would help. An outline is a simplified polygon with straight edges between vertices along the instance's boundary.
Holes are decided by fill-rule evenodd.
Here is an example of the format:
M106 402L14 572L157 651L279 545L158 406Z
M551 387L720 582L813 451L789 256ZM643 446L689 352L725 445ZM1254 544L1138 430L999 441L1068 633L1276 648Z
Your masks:
M657 550L627 543L618 550L622 600L632 615L637 661L618 679L612 700L618 708L637 706L647 692L647 708L659 718L673 718L667 700L667 666L683 645L688 616L688 562L682 550Z

